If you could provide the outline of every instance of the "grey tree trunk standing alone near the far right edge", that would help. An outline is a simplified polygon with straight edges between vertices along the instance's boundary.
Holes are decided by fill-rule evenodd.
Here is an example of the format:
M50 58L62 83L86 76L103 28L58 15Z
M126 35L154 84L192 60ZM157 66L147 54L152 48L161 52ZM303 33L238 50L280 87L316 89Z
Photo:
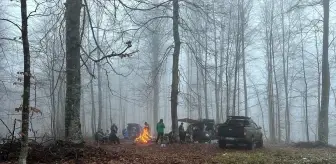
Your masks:
M322 97L321 110L319 112L319 141L328 144L329 139L329 92L330 92L330 72L329 72L329 0L323 0L323 56L322 56Z

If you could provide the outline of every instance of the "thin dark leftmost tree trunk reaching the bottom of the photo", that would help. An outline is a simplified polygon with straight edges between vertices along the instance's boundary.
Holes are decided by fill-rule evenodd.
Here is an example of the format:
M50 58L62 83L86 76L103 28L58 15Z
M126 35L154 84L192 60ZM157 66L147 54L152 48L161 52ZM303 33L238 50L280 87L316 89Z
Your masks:
M20 164L27 163L28 156L28 130L29 130L29 95L30 95L30 52L28 41L28 16L27 1L21 0L21 38L23 47L23 102L21 118L21 151L19 157Z

